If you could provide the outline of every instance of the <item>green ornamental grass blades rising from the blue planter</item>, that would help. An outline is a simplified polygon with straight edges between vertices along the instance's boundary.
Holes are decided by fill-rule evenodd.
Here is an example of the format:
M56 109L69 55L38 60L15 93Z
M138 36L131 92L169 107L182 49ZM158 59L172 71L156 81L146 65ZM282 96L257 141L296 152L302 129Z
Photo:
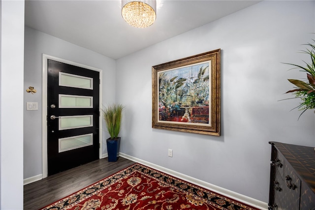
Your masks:
M122 112L124 106L121 104L108 105L103 107L103 118L106 122L107 132L110 135L110 139L114 140L118 138L121 122L122 122Z

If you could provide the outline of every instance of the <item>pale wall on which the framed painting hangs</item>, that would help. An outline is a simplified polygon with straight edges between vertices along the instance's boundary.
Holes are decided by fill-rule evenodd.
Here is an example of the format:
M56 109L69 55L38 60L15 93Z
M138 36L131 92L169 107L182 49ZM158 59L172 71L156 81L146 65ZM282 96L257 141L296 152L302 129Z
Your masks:
M303 14L303 15L301 15ZM314 1L262 1L117 60L117 102L126 105L121 152L268 203L271 146L315 146L314 113L289 111L281 62L309 61ZM221 48L221 137L152 129L151 67ZM173 157L167 149L173 149Z

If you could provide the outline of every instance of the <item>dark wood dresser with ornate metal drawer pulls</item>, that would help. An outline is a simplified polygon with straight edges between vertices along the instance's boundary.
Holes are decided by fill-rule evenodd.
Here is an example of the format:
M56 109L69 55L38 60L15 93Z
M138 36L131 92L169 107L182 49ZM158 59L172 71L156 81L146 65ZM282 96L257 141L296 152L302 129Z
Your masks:
M314 147L269 142L269 210L315 210Z

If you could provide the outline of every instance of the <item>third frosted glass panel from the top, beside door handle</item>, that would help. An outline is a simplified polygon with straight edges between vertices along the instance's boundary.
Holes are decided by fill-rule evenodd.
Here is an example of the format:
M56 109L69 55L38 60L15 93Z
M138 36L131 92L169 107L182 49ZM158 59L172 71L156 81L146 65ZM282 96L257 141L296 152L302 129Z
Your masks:
M59 117L59 130L85 128L91 126L93 126L93 115Z

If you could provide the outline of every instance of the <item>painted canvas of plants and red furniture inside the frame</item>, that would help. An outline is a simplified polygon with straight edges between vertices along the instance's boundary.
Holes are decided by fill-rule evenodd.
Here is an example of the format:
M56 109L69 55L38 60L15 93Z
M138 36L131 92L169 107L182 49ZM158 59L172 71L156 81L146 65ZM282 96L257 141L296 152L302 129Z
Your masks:
M211 60L158 72L158 120L209 125Z

